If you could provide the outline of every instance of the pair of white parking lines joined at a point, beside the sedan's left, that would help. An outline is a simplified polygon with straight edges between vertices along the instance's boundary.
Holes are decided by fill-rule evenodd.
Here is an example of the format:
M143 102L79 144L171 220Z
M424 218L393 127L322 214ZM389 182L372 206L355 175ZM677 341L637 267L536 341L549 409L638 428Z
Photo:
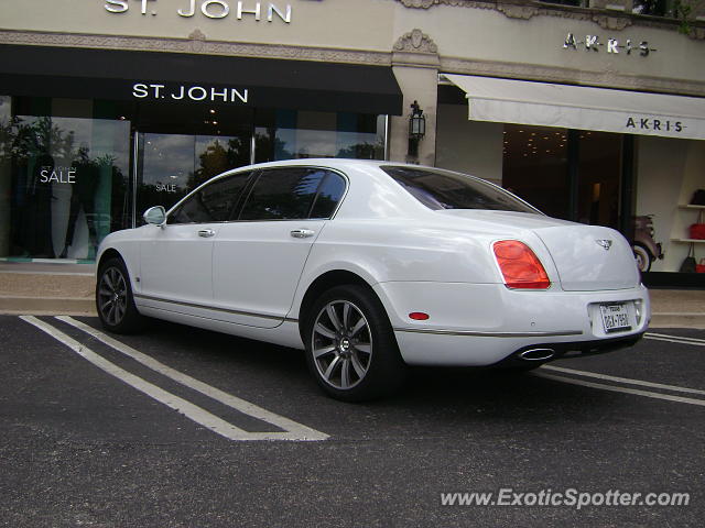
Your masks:
M120 343L119 341L113 340L112 338L102 334L101 332L84 324L79 321L76 321L69 317L57 317L57 319L72 324L86 333L91 334L96 339L102 341L105 344L122 352L123 354L139 361L143 365L159 372L162 375L171 377L172 380L194 389L206 396L209 396L213 399L216 399L240 413L247 414L260 420L272 424L281 429L284 429L285 432L249 432L240 429L232 424L229 424L221 418L218 418L215 415L202 409L200 407L175 396L156 385L153 385L145 380L142 380L134 374L131 374L118 365L105 360L102 356L90 350L89 348L80 344L78 341L74 340L69 336L66 336L61 330L55 327L35 318L32 316L21 316L20 319L33 324L40 330L48 333L57 341L62 342L74 352L79 354L82 358L88 360L94 365L98 366L106 373L121 380L128 385L137 388L138 391L147 394L148 396L154 398L155 400L171 407L172 409L182 413L187 418L193 421L200 424L204 427L217 432L218 435L228 438L230 440L325 440L328 438L327 435L316 431L315 429L311 429L306 426L297 424L293 420L289 420L288 418L278 416L273 413L270 413L261 407L258 407L253 404L250 404L243 399L237 398L232 395L224 393L215 387L210 387L203 382L199 382L186 374L183 374L178 371L175 371L166 365L159 363L158 361L151 359L150 356L138 352L130 346Z

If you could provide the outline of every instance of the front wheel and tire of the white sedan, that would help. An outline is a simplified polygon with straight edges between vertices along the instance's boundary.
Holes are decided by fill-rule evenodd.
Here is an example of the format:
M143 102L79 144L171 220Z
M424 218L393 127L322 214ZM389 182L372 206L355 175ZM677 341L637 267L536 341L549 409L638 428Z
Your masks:
M144 317L134 306L130 275L120 257L100 264L96 282L96 309L106 330L134 333L142 329Z

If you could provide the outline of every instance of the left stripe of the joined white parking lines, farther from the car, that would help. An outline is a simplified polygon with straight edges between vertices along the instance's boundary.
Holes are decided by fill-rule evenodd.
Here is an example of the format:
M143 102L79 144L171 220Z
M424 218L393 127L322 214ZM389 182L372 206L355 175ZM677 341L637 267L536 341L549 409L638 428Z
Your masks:
M210 429L212 431L220 435L221 437L225 437L229 440L275 440L275 439L302 440L302 438L279 438L278 435L281 436L282 433L272 433L272 432L252 433L252 432L245 431L243 429L240 429L234 426L232 424L229 424L223 420L221 418L218 418L217 416L212 415L210 413L202 409L200 407L192 404L191 402L180 398L178 396L175 396L158 387L156 385L153 385L142 380L141 377L138 377L134 374L131 374L124 371L123 369L120 369L119 366L105 360L102 356L95 353L89 348L80 344L78 341L72 339L70 337L66 336L62 331L52 327L51 324L47 324L46 322L40 319L36 319L35 317L32 317L32 316L22 316L21 319L29 322L30 324L33 324L40 330L46 332L52 338L65 344L70 350L76 352L78 355L89 361L90 363L93 363L94 365L96 365L98 369L102 370L107 374L110 374L111 376L117 377L121 382L127 383L128 385L135 388L137 391L155 399L160 404L163 404L176 410L177 413L184 415L186 418L195 421L196 424L203 427Z

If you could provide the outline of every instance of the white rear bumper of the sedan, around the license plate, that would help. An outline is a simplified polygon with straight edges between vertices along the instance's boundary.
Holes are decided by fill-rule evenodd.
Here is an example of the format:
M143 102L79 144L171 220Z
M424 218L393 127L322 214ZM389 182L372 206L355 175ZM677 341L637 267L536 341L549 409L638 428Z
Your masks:
M648 328L643 286L604 292L518 292L503 285L383 283L376 287L402 358L412 365L486 366L546 349L545 361L634 344ZM626 302L631 328L608 333L599 306ZM423 311L426 321L408 315ZM538 355L540 356L540 354Z

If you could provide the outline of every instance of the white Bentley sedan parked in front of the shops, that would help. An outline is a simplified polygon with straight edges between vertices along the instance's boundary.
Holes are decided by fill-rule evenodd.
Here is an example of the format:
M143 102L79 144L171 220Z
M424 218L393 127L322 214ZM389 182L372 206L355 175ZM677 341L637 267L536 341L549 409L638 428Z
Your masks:
M100 245L105 328L148 316L305 349L345 400L393 391L406 365L529 370L629 346L650 319L621 234L436 168L253 165L144 219Z

